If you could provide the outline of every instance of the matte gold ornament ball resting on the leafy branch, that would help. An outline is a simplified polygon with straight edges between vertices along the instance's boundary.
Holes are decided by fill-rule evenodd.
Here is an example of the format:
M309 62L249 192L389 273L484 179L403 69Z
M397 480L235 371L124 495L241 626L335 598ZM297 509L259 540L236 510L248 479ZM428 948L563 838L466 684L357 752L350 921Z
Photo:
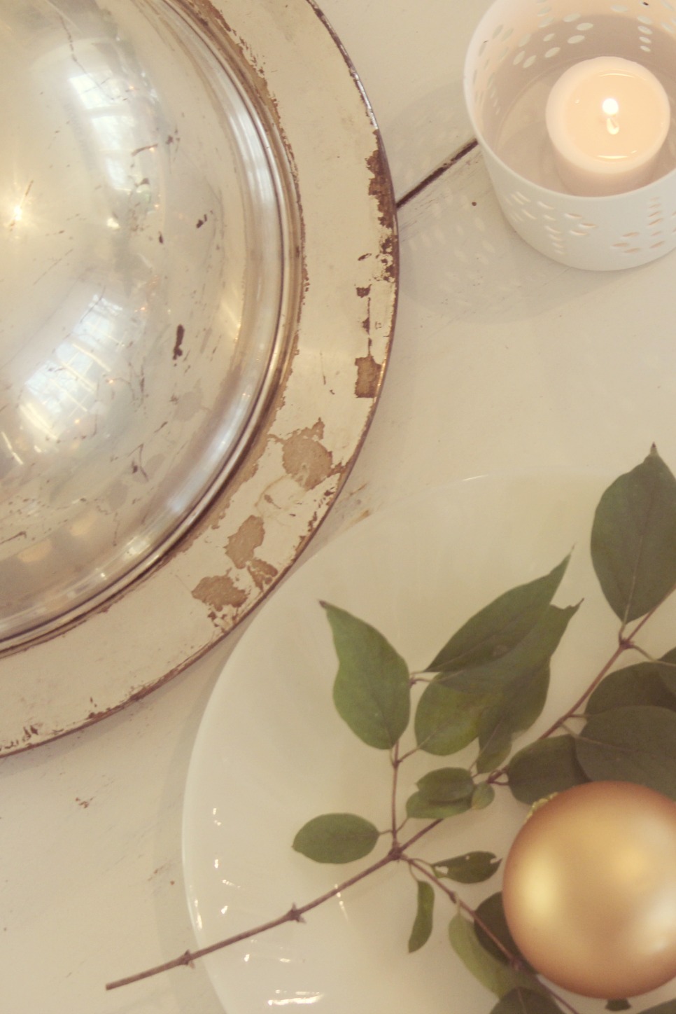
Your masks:
M615 1000L676 975L676 803L590 782L540 806L505 863L508 926L524 957L573 993Z

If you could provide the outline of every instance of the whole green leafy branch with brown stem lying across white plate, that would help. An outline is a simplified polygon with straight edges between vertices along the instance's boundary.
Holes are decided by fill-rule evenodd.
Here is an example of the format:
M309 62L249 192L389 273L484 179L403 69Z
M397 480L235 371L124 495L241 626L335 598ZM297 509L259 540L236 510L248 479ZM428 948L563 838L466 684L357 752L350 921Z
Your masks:
M539 738L513 752L514 741L538 719L549 687L550 661L580 603L552 600L569 565L499 596L468 620L412 674L375 628L337 606L322 603L339 660L333 702L339 715L367 745L389 752L390 822L385 829L354 813L313 817L293 848L319 863L365 859L383 839L379 859L340 885L278 918L152 969L109 983L115 989L272 930L302 922L313 909L384 866L403 864L416 885L416 915L408 950L433 932L439 894L454 908L450 944L470 972L497 997L491 1014L578 1014L528 965L511 937L500 891L476 909L455 883L480 883L497 871L492 853L470 852L429 862L416 846L443 821L491 805L496 789L533 804L589 781L635 782L676 799L676 648L652 659L639 634L676 587L676 479L653 447L635 468L603 494L591 534L594 570L619 620L617 644L585 693ZM615 668L626 652L642 661ZM420 687L423 686L422 693ZM414 698L414 692L419 696ZM402 737L411 725L415 745ZM582 723L582 724L581 724ZM575 729L581 725L578 731ZM469 767L428 771L399 800L401 769L412 755L448 757L476 743ZM424 821L404 834L411 821ZM612 1000L608 1010L626 1010ZM676 1000L645 1014L676 1014Z

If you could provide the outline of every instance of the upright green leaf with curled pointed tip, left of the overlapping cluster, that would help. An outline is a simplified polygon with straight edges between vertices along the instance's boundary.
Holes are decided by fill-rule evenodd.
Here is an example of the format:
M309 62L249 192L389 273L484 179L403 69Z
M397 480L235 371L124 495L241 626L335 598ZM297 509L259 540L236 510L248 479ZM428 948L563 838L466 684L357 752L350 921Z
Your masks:
M408 667L375 628L345 609L321 604L339 657L333 683L337 713L369 746L389 749L408 725Z

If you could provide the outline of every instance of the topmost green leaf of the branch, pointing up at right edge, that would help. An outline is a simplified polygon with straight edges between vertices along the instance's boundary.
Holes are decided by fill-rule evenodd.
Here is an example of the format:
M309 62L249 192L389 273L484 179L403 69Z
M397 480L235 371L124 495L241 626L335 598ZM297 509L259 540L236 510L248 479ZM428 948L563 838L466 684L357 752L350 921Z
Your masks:
M676 479L655 447L601 497L591 550L603 594L623 624L676 585Z

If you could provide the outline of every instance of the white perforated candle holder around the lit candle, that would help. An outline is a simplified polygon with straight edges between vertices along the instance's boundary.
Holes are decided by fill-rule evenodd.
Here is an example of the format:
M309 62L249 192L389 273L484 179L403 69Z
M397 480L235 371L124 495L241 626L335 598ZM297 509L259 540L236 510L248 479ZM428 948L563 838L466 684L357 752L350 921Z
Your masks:
M671 125L645 186L581 197L558 174L545 107L569 67L607 56L658 78ZM469 45L464 88L502 210L531 246L592 271L636 267L676 246L676 0L497 0Z

